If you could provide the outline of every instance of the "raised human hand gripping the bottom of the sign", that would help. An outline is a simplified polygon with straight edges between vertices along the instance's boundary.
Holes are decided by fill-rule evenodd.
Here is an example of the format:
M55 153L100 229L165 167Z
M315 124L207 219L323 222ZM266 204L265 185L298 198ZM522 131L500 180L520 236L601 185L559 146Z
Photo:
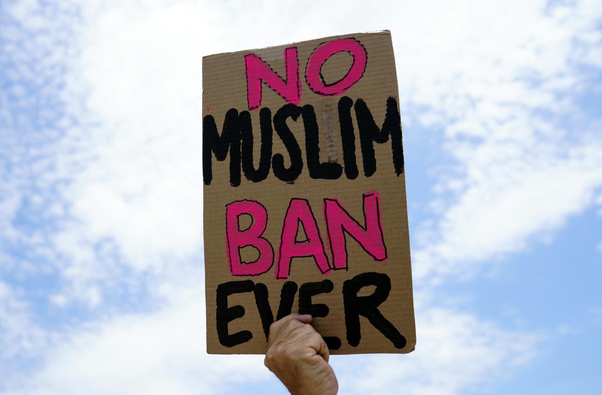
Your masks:
M264 364L293 395L334 395L338 381L310 315L290 314L270 326Z

